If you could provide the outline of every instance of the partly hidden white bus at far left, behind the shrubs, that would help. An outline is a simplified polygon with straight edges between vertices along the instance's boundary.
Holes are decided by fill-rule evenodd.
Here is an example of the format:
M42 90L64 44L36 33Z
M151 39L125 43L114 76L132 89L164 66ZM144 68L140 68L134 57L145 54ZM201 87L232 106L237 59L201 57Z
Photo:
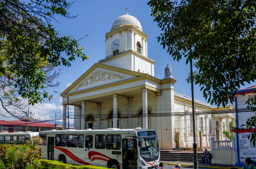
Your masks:
M29 138L31 138L32 141L38 139L38 132L31 132L31 131L18 132L18 133L3 132L3 133L0 133L0 144L11 144L11 145L26 144Z

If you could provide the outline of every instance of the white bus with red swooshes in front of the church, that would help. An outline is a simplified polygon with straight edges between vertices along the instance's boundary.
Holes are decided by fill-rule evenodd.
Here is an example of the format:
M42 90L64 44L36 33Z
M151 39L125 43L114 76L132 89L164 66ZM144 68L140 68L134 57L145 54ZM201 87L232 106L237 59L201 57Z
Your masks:
M155 130L40 131L43 159L116 169L154 169L160 162Z

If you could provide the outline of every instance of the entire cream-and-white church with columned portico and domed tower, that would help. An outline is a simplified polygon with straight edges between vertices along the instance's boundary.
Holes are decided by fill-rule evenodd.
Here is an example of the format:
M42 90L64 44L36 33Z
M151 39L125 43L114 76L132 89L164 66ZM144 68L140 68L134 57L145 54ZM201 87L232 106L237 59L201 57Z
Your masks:
M150 128L156 130L161 149L177 146L176 133L179 133L179 145L189 147L191 98L175 92L176 80L169 66L163 68L163 79L154 77L154 63L148 58L147 34L140 22L127 13L118 17L106 33L106 58L64 90L66 96L61 94L63 130L68 96L69 105L74 106L76 130ZM195 109L197 131L204 131L205 146L210 145L210 137L229 130L227 124L235 121L232 113L227 111L221 118L213 113L216 107L201 101L195 100ZM221 128L224 124L227 127Z

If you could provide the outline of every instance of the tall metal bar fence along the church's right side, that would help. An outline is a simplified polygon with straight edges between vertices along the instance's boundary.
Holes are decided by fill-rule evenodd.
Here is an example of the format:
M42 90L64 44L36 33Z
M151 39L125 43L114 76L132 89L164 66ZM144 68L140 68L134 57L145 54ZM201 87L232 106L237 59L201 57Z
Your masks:
M211 138L215 141L229 141L235 127L234 113L195 115L196 142L199 147L199 131L202 131L203 148L211 148ZM179 133L180 147L193 147L192 115L175 116L175 133ZM177 137L177 135L176 135Z

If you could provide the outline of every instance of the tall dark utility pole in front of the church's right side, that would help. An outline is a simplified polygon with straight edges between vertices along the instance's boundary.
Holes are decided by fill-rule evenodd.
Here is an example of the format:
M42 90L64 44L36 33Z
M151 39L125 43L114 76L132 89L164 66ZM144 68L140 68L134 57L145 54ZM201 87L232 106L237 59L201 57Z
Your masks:
M197 143L195 141L195 108L194 108L194 81L193 81L193 70L192 61L190 61L190 77L191 77L191 95L192 95L192 116L193 116L193 162L194 169L197 169Z

